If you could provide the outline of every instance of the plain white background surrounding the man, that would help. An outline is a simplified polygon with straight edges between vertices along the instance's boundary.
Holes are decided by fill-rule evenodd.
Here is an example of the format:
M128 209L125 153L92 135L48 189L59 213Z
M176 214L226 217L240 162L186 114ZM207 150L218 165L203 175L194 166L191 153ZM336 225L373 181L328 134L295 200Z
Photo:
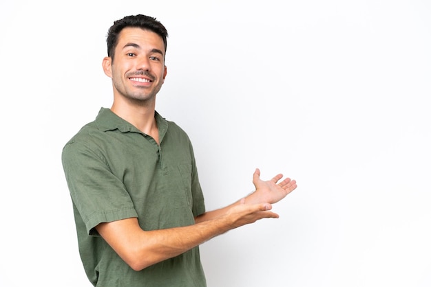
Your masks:
M431 3L0 2L0 286L90 286L61 167L110 107L105 36L169 32L157 110L184 128L207 208L278 172L277 220L202 244L209 287L431 286Z

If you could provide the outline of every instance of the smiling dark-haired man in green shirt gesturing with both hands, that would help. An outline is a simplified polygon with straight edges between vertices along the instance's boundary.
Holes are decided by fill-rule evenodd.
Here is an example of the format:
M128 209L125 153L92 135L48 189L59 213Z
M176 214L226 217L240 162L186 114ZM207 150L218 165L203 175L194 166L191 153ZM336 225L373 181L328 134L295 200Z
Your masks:
M167 75L166 39L153 17L114 22L103 59L112 107L101 108L63 148L79 251L94 286L206 286L198 246L277 218L271 204L296 188L280 181L282 174L262 181L256 170L255 192L205 211L189 137L155 110Z

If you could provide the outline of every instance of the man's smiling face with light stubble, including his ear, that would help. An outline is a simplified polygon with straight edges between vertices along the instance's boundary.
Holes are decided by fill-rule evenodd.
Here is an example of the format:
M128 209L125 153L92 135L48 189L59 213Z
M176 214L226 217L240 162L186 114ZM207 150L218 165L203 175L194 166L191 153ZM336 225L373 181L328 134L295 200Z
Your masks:
M165 45L158 34L136 27L123 29L114 61L103 59L103 69L112 78L114 98L154 101L167 73L164 58Z

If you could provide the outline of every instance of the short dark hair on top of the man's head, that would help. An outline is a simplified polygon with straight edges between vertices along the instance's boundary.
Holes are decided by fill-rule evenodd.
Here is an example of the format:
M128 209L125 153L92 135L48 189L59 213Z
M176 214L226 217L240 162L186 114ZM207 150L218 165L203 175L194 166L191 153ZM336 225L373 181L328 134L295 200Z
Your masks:
M109 27L106 43L108 57L114 60L115 47L118 44L118 35L126 27L138 27L143 30L149 30L158 34L163 39L165 44L165 54L167 48L167 30L160 21L151 16L145 16L142 14L125 16L123 19L114 21L114 25Z

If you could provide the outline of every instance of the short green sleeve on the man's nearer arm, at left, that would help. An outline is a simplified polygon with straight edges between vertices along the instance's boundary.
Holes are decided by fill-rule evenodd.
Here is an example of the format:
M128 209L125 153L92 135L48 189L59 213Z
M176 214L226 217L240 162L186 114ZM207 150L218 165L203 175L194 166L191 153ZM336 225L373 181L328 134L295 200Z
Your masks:
M61 157L70 196L87 234L101 222L138 217L121 179L110 170L103 153L90 144L70 141Z

